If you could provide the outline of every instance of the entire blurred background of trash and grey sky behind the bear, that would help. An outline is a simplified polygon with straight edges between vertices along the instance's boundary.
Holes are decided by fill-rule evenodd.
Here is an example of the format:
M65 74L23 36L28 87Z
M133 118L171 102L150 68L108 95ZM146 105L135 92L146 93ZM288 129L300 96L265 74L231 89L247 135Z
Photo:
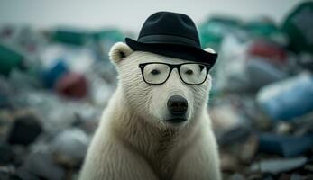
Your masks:
M107 53L157 11L219 54L208 113L224 179L313 179L313 2L0 1L0 179L77 179L116 87Z

